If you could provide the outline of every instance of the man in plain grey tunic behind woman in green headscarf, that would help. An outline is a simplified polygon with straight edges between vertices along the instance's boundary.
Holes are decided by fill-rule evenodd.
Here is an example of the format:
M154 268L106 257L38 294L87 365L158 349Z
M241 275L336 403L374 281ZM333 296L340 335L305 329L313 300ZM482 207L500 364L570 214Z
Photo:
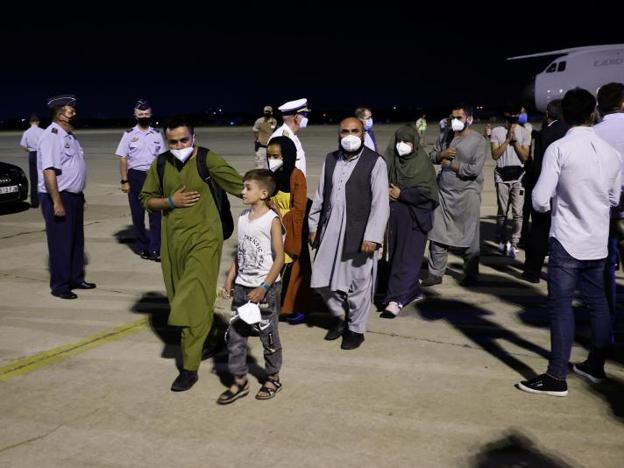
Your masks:
M479 274L479 218L483 164L489 155L487 140L470 129L472 110L453 109L451 128L438 138L431 160L440 165L438 187L440 205L433 214L429 231L429 277L423 286L442 282L449 250L464 257L463 286L472 286Z

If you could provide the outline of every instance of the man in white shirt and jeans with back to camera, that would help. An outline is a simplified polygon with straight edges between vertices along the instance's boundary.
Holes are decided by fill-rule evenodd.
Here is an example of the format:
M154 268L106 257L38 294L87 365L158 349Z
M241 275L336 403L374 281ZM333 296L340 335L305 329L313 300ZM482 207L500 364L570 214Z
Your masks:
M574 372L598 383L611 341L611 320L603 274L609 236L609 213L620 200L622 157L594 132L596 100L575 88L562 101L570 130L544 154L542 172L533 189L533 208L552 205L548 296L552 350L548 370L518 388L525 392L566 396L568 360L574 342L572 299L577 286L590 310L592 347Z

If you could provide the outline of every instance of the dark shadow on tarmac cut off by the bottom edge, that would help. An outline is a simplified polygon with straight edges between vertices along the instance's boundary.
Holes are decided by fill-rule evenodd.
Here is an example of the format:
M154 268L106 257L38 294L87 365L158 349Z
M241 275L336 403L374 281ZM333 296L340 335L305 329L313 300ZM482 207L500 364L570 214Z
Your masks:
M544 453L527 436L517 430L508 431L499 440L482 448L470 462L473 468L566 468L572 465L558 455Z

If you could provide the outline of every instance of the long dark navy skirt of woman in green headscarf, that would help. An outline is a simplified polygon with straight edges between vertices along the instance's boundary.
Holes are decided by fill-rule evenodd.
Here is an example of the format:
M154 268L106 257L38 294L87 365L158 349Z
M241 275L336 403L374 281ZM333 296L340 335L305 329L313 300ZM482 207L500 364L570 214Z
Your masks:
M390 203L388 248L390 274L385 303L405 305L420 295L420 267L425 253L427 233L422 232L409 213L407 205Z

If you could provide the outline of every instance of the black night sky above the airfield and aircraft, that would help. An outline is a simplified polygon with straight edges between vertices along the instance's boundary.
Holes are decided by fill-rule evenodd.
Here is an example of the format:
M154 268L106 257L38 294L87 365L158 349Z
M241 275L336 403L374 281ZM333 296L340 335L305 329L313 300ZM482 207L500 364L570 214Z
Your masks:
M65 92L96 118L124 117L139 97L161 115L260 113L299 97L319 111L496 106L552 59L506 57L624 42L621 2L332 3L14 7L0 15L0 118Z

